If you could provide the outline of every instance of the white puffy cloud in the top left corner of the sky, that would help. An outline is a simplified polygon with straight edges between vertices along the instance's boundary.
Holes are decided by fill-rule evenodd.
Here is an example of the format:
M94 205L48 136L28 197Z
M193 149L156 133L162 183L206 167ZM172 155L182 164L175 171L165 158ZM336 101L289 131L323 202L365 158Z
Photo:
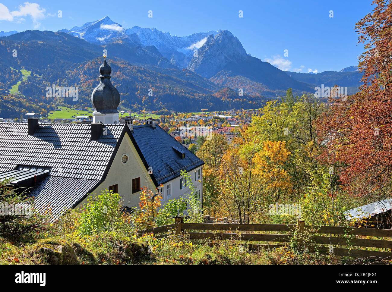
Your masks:
M25 2L19 5L19 10L9 12L7 6L0 3L0 20L24 22L25 16L30 16L33 20L34 28L40 27L40 20L45 18L46 9L41 8L37 3Z

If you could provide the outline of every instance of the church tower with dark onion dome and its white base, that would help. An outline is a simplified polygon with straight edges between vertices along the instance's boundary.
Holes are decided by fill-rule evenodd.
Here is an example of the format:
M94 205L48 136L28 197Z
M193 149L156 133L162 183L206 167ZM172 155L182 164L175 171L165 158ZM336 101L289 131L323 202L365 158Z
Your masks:
M120 93L110 81L112 68L106 63L106 58L103 59L99 72L101 82L91 94L91 103L95 109L93 123L118 124L117 107L120 104Z

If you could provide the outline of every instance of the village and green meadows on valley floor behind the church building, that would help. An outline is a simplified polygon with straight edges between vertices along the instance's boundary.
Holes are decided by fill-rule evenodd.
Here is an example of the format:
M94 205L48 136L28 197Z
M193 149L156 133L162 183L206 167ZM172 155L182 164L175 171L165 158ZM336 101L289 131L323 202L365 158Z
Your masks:
M176 138L185 147L196 143L196 139L211 137L212 133L221 134L227 142L238 137L238 129L242 125L248 125L252 122L252 116L260 115L260 109L232 109L229 111L208 112L207 109L202 112L171 112L171 114L159 114L159 111L122 111L120 112L120 123L126 123L126 120L132 118L134 125L142 125L147 119L154 119L156 123L167 131L171 136ZM56 118L56 116L69 116L69 118ZM71 116L72 115L72 116ZM0 122L27 122L28 118L39 118L40 123L57 124L57 123L91 123L91 108L69 108L59 106L57 111L49 112L47 118L40 114L27 113L20 118L0 118Z

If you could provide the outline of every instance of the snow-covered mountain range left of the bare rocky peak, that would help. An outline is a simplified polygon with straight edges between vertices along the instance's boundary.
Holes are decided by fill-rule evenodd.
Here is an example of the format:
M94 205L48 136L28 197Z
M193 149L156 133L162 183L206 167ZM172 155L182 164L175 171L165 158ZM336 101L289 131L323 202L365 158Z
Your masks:
M172 36L170 33L163 33L156 28L134 26L131 29L124 29L122 25L111 20L109 16L61 31L93 44L106 45L120 41L129 43L131 46L142 46L144 49L154 46L172 64L184 68L188 67L194 50L199 49L209 35L215 36L219 33L219 31L209 31L179 37Z

